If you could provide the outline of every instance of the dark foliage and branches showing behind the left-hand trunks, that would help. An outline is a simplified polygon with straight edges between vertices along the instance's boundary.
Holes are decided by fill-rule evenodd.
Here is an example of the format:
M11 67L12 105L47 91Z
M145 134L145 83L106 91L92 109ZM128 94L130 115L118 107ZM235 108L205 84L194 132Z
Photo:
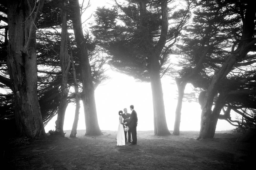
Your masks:
M6 66L7 59L7 44L8 44L8 22L6 15L6 4L1 4L0 19L1 22L0 31L0 82L1 88L9 90L11 88L10 79ZM67 26L71 29L71 19L68 15ZM56 115L59 99L60 99L60 85L61 85L61 69L59 66L59 51L61 36L58 29L61 28L60 17L60 1L46 1L43 6L42 14L38 18L36 32L36 49L37 49L37 65L38 65L38 99L41 108L41 114L43 118L44 126ZM73 60L75 62L78 83L81 84L81 69L79 60L77 57L78 48L75 44L74 35L70 33L70 45L73 52ZM101 82L107 79L104 74L103 64L106 61L106 57L99 51L97 41L89 36L89 33L84 35L87 40L88 54L90 58L90 64L92 68L92 79L94 87L96 88ZM69 72L68 79L69 87L71 91L68 96L68 103L75 102L74 86L72 69ZM9 90L10 91L10 90ZM81 88L80 88L81 91ZM13 94L2 95L0 98L1 108L4 108L6 112L1 112L0 117L8 116L13 118L14 106L13 106Z

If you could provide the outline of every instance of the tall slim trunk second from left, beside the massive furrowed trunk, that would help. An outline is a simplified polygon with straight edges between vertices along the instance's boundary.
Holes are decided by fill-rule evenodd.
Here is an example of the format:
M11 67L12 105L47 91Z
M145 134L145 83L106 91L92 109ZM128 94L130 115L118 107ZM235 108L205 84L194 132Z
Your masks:
M64 137L63 132L63 125L64 125L64 118L65 112L67 108L67 95L68 95L68 88L67 88L67 79L70 67L70 57L68 54L68 33L67 33L67 0L63 1L63 6L61 10L62 15L62 28L61 28L61 47L59 53L59 62L62 71L62 82L61 82L61 99L59 102L58 108L58 116L57 120L55 121L55 132Z

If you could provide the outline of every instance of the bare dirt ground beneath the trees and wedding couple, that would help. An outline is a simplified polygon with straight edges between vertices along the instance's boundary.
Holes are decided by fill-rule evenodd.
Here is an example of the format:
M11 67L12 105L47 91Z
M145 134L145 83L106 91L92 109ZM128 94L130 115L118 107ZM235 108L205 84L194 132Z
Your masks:
M84 136L85 130L78 130L75 139L69 138L70 131L65 132L65 138L11 142L5 149L6 169L237 170L255 162L255 148L251 143L235 142L238 134L234 133L216 132L213 139L198 141L198 131L164 137L138 131L137 145L116 146L117 131Z

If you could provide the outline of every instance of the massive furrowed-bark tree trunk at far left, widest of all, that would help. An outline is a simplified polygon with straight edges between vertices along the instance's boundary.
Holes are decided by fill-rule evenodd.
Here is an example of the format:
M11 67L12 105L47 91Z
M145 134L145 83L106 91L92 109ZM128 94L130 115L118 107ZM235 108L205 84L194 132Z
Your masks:
M34 1L6 1L9 28L7 67L14 93L15 122L18 134L33 139L45 138L37 96L37 52L35 32L39 1L34 15Z

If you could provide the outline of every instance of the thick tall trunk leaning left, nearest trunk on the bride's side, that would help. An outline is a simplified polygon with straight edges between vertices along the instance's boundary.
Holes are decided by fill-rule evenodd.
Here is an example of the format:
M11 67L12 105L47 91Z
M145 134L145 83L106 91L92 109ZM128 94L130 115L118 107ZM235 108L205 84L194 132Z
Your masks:
M82 84L83 84L83 107L85 112L85 135L102 135L98 125L96 103L94 96L94 86L91 74L91 66L87 53L86 40L83 35L81 14L78 0L70 0L70 7L73 11L72 23L75 35L75 41L79 49L78 56L81 67Z

